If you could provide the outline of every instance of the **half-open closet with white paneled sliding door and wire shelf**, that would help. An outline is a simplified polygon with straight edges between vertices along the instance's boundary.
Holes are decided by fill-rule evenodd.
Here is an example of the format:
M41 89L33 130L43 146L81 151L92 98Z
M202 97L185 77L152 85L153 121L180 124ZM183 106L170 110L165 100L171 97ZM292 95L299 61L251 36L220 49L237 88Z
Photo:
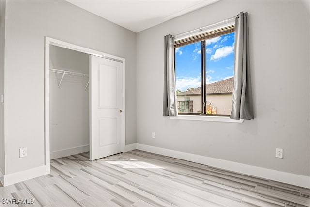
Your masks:
M51 38L46 41L49 159L89 151L94 160L123 152L124 58Z

